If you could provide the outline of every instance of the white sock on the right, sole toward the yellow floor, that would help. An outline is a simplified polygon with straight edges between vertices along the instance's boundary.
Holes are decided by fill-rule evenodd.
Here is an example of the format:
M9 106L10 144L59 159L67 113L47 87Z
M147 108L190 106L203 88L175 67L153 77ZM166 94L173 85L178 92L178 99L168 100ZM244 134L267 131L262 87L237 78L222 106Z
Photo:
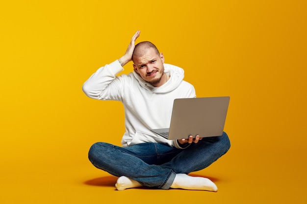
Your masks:
M171 188L217 191L217 186L209 179L203 177L191 177L186 174L176 174Z

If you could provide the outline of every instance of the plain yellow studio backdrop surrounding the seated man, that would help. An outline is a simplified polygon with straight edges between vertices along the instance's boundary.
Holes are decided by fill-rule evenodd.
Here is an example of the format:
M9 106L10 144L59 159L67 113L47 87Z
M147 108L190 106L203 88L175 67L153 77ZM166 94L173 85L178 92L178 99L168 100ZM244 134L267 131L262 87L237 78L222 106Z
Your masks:
M306 20L305 0L2 0L0 203L306 203ZM87 159L120 145L124 110L82 84L136 30L198 97L231 97L231 149L194 174L217 193L119 192Z

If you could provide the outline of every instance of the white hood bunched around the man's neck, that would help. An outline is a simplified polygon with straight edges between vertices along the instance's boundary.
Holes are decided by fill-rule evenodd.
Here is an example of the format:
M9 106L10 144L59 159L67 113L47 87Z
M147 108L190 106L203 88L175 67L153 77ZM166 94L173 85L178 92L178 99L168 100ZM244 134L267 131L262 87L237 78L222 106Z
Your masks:
M133 76L137 79L140 86L146 90L153 91L153 93L167 93L176 89L184 78L184 70L174 65L163 64L164 73L171 76L169 80L160 87L154 87L133 70Z

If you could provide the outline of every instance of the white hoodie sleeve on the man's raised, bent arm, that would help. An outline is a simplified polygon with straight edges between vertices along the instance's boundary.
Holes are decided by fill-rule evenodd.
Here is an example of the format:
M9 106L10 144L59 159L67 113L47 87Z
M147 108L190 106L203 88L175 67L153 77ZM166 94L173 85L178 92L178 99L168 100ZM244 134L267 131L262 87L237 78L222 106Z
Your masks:
M124 68L119 64L118 60L111 64L99 68L82 86L83 92L90 98L106 100L115 99L120 95L120 90L116 89L116 84L112 87L112 94L108 93L110 98L103 97L103 92L110 86L111 82L116 78L116 74L123 71Z

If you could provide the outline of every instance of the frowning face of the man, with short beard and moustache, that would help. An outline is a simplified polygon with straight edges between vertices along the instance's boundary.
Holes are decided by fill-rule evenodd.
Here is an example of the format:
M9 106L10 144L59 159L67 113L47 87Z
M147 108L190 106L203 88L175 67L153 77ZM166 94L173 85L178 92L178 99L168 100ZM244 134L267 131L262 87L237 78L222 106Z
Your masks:
M161 80L164 73L164 57L153 48L146 50L141 57L133 57L133 68L145 81L154 87L160 87L165 83Z

